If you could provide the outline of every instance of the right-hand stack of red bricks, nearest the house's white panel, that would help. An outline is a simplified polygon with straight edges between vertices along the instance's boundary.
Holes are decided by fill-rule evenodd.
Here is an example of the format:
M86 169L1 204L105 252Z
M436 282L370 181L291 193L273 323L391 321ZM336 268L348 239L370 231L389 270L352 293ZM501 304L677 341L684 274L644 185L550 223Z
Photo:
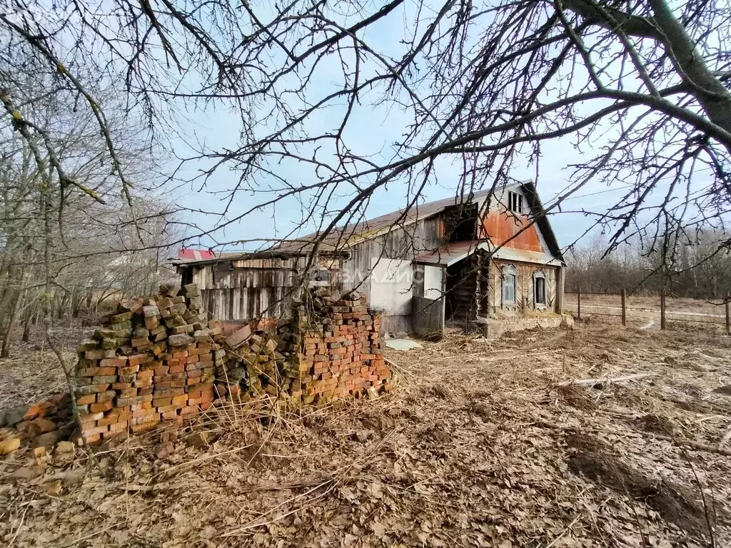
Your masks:
M361 294L308 294L279 325L283 390L306 404L390 390L379 329Z

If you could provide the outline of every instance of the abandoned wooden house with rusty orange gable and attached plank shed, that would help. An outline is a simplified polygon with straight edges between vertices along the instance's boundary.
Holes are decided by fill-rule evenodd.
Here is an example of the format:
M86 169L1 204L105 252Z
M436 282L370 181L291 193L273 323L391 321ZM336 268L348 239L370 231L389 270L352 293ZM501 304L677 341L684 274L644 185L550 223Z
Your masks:
M561 323L565 263L531 181L338 229L308 262L315 237L256 253L188 252L173 263L224 321L276 319L311 264L311 284L365 293L385 332Z

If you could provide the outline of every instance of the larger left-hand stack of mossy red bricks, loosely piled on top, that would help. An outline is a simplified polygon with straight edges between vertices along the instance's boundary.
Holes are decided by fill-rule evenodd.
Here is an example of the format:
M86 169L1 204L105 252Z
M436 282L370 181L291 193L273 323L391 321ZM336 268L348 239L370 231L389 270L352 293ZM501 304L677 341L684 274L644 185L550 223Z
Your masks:
M149 299L124 300L81 343L76 405L83 438L99 441L208 408L216 360L200 290L163 286Z

